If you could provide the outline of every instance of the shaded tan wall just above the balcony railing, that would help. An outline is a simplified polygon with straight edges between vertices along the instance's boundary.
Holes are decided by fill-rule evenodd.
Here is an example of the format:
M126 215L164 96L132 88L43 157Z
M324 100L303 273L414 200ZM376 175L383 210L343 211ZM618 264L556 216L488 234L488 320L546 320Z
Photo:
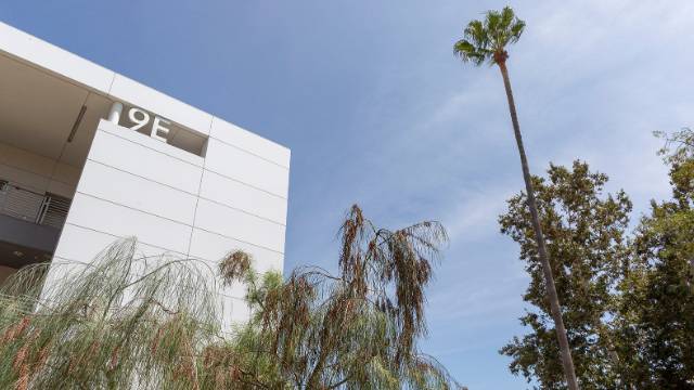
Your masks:
M78 167L0 143L0 179L26 190L72 198L79 181L79 171Z

